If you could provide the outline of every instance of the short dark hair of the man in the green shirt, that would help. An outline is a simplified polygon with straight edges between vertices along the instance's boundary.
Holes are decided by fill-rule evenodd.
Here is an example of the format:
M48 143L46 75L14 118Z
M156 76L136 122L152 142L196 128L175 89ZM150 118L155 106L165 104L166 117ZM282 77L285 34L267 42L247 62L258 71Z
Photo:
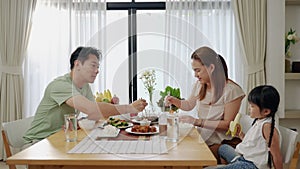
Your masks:
M80 60L83 64L88 59L89 54L93 54L98 60L101 60L101 52L98 49L80 46L71 54L70 69L73 69L75 60Z

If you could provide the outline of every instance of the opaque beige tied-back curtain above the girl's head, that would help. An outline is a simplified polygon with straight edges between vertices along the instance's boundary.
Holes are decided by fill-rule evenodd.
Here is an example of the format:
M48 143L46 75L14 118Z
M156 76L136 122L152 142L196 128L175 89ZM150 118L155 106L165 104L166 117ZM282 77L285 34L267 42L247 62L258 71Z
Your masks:
M267 0L233 0L243 55L247 60L247 92L266 83Z

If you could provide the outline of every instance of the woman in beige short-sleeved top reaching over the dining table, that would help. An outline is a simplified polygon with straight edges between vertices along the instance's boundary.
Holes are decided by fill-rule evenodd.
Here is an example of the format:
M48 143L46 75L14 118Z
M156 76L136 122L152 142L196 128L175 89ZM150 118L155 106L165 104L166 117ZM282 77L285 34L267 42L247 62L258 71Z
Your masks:
M228 70L224 58L209 47L197 49L191 56L192 68L198 79L187 100L179 100L169 96L168 104L173 104L184 111L196 107L199 119L191 116L182 116L180 121L193 123L198 127L202 138L217 158L218 148L222 142L234 143L225 133L230 121L234 120L239 112L245 93L239 85L228 79ZM231 141L226 141L231 140Z

